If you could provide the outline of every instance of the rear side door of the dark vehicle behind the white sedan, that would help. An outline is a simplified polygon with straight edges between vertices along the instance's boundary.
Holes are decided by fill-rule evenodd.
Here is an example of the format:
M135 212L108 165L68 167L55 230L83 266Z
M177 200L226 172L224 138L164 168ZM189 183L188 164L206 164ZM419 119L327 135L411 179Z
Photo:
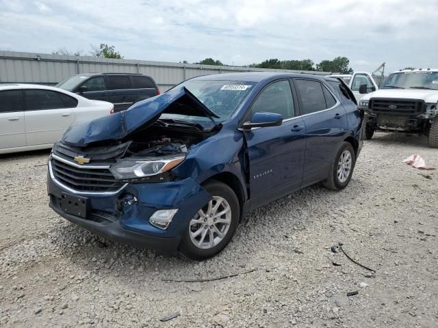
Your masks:
M133 89L131 76L128 74L108 74L108 101L114 104L114 112L123 111L137 99L137 90Z

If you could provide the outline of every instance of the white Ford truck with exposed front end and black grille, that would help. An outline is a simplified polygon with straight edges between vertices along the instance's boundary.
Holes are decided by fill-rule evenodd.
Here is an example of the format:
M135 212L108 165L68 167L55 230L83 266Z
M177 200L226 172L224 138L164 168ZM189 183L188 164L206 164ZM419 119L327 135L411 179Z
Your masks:
M359 88L361 94L367 91ZM364 139L376 130L402 131L427 135L428 145L438 148L438 69L390 74L380 90L359 100L359 109L365 112Z

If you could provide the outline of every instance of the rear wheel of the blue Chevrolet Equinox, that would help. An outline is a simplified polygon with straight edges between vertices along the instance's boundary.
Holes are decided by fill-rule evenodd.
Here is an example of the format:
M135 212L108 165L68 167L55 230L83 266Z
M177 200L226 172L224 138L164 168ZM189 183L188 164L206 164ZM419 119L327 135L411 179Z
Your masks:
M341 165L340 162L342 162L342 159L346 160L346 156L348 156L347 155L348 153L350 156L350 169L348 171L348 175L345 174L346 170L344 170L342 171L343 172L343 175L341 176L342 178L339 178L338 169L339 169L339 165ZM324 184L324 187L332 190L341 190L347 187L348 183L351 180L353 170L355 169L355 164L356 164L355 150L351 146L351 143L344 141L344 143L342 143L341 147L337 151L335 159L333 159L333 162L330 165L329 176L326 178L326 180L322 182L322 184Z

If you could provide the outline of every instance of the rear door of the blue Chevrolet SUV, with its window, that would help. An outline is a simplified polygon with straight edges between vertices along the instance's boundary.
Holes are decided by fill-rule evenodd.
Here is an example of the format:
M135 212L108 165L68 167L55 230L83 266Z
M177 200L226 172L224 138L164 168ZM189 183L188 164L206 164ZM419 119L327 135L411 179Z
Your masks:
M303 186L324 180L348 122L341 102L318 80L294 79L306 126Z

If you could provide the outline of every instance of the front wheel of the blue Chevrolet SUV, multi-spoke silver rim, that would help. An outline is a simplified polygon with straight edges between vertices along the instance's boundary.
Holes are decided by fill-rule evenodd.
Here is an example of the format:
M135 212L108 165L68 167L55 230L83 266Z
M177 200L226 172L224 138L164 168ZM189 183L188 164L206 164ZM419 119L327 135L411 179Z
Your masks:
M213 199L190 219L179 246L179 252L192 260L205 260L222 251L233 238L240 220L239 200L233 189L216 180L210 180L203 187ZM220 204L216 214L224 212L227 208L229 211L214 219L214 208L218 202ZM210 209L210 214L213 216L209 215ZM221 222L218 222L219 220ZM223 234L222 238L218 232ZM201 238L203 238L202 241Z

